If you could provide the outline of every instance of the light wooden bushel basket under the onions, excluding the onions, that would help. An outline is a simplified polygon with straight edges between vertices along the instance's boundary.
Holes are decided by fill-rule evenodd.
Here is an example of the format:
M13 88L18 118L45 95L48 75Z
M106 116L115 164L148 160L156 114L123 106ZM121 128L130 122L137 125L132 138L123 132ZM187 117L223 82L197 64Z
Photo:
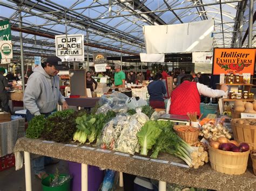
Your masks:
M231 152L209 147L209 158L214 171L225 174L243 174L247 168L250 151Z

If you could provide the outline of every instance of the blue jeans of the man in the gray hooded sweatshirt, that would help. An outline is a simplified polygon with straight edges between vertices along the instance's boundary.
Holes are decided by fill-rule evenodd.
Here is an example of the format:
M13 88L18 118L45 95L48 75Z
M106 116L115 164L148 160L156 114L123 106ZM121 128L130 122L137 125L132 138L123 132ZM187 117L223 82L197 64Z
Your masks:
M45 117L48 117L51 115L51 112L48 114L44 114ZM26 109L26 119L31 121L31 119L35 117L35 115L32 115L28 109ZM32 166L35 174L40 174L42 172L45 172L44 166L49 164L52 161L51 157L45 157L45 156L40 156L38 158L35 158L32 160Z

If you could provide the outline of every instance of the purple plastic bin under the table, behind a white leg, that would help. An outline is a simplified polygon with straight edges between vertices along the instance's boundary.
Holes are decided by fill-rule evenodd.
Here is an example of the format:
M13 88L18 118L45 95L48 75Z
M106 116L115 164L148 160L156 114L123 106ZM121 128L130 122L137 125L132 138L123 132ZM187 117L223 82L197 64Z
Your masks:
M71 180L72 191L81 191L81 164L68 162L69 174L73 176ZM104 171L99 167L88 165L88 190L97 191L104 178Z

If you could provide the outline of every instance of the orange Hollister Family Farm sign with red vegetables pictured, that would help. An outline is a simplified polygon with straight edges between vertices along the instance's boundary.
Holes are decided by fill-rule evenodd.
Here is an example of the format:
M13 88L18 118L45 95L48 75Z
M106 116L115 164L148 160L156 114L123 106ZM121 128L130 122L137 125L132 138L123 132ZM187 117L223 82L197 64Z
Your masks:
M214 48L213 74L254 75L255 53L255 48Z

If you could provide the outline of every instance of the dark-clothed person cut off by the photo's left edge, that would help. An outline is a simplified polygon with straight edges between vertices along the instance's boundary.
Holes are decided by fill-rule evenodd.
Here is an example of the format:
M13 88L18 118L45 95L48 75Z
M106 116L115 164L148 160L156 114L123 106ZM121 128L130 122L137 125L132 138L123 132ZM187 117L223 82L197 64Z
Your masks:
M8 99L8 93L5 88L12 87L12 84L8 83L8 80L3 75L5 73L4 68L0 68L0 107L6 111L9 112L9 99Z

